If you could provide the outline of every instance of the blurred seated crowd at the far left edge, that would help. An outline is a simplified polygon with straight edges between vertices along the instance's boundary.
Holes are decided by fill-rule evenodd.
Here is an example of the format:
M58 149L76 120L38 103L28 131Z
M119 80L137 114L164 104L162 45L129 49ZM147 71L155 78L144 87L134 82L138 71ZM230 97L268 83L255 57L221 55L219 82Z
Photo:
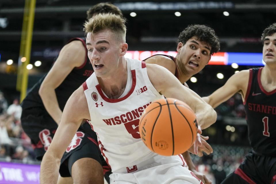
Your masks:
M8 105L4 94L0 92L0 161L34 160L30 138L24 133L20 116L22 108L18 99Z

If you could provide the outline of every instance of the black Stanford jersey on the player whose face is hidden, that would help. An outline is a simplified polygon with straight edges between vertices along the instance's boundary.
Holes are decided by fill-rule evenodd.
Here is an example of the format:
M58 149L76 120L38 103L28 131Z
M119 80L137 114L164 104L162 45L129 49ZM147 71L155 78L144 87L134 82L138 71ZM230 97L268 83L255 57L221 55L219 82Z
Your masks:
M72 38L68 41L70 43L74 40L80 40L83 43L83 49L86 50L87 56L87 49L85 45L85 38ZM62 68L60 68L62 70ZM55 89L55 94L57 95L57 101L60 106L60 109L63 111L64 106L72 95L72 93L81 86L81 84L86 81L86 79L94 72L92 64L89 61L89 58L86 57L82 66L74 68L68 76L64 79L64 81ZM41 83L43 82L44 78L47 74L45 74L28 92L26 98L22 102L22 108L39 108L43 109L44 105L38 93ZM46 110L45 110L46 111Z

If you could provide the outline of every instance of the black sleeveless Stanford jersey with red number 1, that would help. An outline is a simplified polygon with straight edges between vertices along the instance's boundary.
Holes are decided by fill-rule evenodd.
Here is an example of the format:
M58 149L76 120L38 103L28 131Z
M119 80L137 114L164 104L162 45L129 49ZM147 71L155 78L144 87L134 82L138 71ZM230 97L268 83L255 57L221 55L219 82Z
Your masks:
M250 146L255 152L276 156L276 89L265 91L262 68L250 69L244 107Z

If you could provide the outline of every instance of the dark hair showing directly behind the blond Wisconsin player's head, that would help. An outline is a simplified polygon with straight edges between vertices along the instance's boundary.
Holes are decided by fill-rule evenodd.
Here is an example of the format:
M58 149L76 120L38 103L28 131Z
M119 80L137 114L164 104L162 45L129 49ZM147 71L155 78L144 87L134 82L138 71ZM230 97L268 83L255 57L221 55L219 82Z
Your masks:
M91 8L89 8L89 10L87 10L86 12L87 19L90 19L95 14L107 14L107 13L120 15L121 17L123 17L122 11L117 6L111 3L98 3L92 6Z

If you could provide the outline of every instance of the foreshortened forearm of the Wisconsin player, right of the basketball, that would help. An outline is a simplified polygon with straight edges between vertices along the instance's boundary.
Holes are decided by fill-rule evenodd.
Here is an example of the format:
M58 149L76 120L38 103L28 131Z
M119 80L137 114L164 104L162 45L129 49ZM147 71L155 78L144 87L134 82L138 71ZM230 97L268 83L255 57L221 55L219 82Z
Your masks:
M196 107L196 117L201 129L206 129L216 122L217 114L210 105L204 104Z

